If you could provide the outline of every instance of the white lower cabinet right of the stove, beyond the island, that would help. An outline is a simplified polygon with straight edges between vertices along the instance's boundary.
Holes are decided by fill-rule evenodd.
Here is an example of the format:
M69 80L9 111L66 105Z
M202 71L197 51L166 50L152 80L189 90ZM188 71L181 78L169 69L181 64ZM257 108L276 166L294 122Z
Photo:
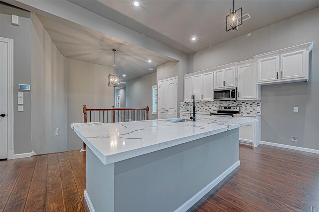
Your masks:
M239 142L257 147L260 144L260 116L258 122L239 128Z

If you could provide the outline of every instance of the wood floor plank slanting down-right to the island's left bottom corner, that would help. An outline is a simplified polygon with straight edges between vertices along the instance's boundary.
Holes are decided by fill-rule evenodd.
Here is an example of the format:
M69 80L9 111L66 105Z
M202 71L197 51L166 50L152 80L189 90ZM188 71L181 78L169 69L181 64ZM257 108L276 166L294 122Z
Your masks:
M58 153L59 168L65 210L67 212L83 212L83 205L77 189L67 153Z

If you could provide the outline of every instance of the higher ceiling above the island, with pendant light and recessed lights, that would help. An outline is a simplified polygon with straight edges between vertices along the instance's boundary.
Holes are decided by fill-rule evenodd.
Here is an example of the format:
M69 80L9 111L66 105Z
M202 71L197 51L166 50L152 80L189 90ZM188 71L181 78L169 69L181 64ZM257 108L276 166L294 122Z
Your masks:
M132 0L70 1L187 54L319 6L319 0L236 0L235 9L251 18L226 32L231 0L140 0L139 7Z

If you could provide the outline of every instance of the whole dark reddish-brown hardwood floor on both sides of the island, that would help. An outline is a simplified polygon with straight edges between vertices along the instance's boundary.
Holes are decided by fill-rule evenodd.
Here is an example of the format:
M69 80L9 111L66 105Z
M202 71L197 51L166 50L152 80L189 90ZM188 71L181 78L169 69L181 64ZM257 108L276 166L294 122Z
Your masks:
M319 212L319 155L240 145L241 165L188 212ZM85 152L0 161L0 212L88 212Z

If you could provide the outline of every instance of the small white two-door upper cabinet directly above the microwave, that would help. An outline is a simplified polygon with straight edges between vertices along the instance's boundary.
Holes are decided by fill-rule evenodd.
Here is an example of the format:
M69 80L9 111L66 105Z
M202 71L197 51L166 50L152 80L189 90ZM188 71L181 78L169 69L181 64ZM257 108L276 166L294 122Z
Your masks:
M236 67L214 71L214 89L236 87Z

